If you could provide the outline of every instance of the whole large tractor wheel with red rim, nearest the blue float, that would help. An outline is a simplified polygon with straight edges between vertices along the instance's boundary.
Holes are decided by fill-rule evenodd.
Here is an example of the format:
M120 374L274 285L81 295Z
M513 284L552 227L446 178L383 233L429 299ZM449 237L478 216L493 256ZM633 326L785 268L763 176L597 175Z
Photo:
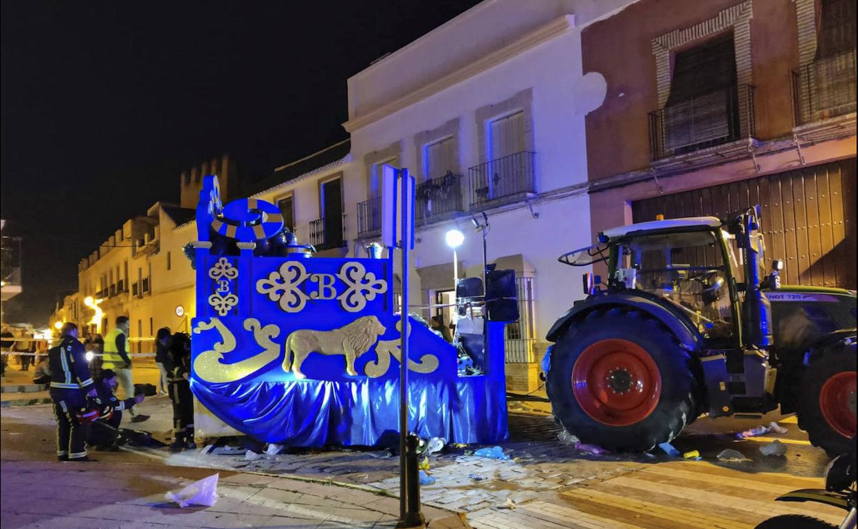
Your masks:
M553 346L548 399L555 418L582 442L650 450L678 436L696 412L693 362L674 334L643 312L595 311Z

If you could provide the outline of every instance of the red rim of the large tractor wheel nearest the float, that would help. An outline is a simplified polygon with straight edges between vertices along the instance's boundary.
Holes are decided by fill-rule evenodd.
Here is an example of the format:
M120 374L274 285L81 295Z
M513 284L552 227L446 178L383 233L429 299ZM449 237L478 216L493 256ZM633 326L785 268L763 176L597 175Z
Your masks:
M662 375L643 347L628 340L601 340L575 361L572 392L591 418L608 426L628 426L656 409Z

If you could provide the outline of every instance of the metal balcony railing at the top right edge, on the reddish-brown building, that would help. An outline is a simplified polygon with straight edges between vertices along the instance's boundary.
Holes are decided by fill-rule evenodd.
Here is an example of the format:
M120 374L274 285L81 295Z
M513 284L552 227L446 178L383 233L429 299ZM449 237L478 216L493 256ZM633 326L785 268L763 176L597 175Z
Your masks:
M793 70L796 125L855 111L855 50Z

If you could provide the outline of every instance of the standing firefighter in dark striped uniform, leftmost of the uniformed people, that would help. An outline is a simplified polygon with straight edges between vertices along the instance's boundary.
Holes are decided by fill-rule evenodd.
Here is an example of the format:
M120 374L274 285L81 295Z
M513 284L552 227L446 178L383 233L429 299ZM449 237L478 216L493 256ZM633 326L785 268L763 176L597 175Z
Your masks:
M77 326L63 323L60 343L48 351L51 371L51 400L57 418L57 459L61 461L92 461L84 442L89 424L98 416L87 409L87 394L94 391L89 375L86 350L77 340Z

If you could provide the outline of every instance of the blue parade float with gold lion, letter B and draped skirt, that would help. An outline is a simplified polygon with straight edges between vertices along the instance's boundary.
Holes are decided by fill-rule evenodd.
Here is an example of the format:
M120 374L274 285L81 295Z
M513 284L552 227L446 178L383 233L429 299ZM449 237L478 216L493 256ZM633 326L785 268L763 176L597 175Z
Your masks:
M401 318L393 252L311 256L257 199L224 206L205 177L196 209L191 389L209 412L259 441L294 447L378 445L398 433ZM508 436L504 323L483 329L473 362L409 317L408 424L424 438ZM469 370L470 371L470 370Z

